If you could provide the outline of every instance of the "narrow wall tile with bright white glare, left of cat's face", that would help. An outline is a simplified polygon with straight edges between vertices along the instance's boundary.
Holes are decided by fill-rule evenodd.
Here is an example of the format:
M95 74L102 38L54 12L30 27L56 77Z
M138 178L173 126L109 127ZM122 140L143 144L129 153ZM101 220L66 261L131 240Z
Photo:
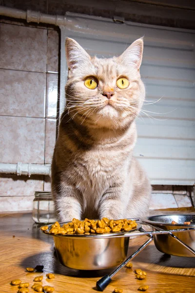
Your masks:
M58 74L47 73L47 117L57 116Z

